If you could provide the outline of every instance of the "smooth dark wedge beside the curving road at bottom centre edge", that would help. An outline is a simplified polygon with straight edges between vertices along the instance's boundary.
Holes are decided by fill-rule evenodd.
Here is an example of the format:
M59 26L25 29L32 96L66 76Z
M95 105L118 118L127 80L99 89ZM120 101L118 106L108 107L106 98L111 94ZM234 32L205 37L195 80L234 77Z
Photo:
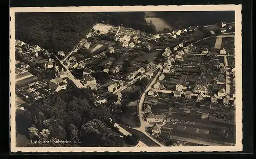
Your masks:
M129 128L129 127L126 127L126 126L122 126L122 125L120 125L120 126L123 129L125 129L126 131L128 131L129 133L137 135L139 137L140 141L142 141L147 146L159 146L157 143L155 143L153 140L148 138L146 135L144 135L140 131L132 129L132 128Z

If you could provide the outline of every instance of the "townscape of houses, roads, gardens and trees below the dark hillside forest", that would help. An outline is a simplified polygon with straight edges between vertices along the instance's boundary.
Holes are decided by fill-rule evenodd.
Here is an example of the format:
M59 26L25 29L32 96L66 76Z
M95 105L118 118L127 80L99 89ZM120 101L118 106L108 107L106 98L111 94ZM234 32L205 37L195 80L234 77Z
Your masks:
M57 32L47 45L35 28L19 36L31 30L17 22L16 146L235 145L234 21L162 17L146 12L136 27L103 17L72 46ZM62 31L77 34L67 21Z

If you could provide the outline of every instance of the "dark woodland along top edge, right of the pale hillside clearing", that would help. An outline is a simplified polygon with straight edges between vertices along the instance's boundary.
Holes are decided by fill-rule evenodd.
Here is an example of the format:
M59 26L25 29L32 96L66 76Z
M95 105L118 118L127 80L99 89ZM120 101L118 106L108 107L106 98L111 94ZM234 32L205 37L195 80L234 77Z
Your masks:
M222 21L234 22L234 11L155 12L174 29L189 26L215 24Z

